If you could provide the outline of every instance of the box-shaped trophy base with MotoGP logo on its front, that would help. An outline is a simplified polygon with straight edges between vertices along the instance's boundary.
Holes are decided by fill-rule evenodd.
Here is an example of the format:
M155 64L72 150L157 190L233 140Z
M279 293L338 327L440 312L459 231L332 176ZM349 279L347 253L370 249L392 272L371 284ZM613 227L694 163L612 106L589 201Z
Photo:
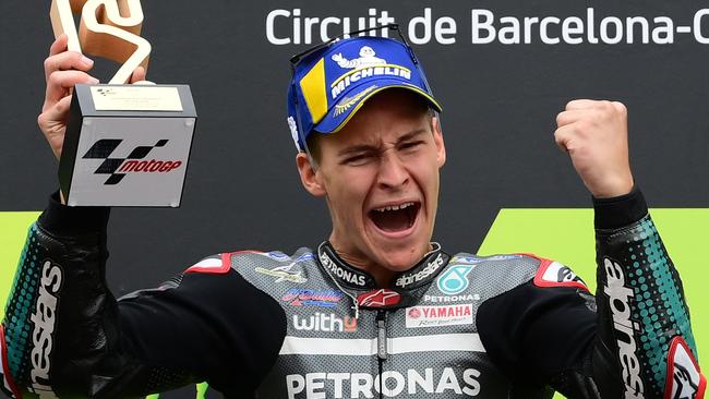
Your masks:
M59 162L67 205L180 206L195 123L187 85L76 85Z

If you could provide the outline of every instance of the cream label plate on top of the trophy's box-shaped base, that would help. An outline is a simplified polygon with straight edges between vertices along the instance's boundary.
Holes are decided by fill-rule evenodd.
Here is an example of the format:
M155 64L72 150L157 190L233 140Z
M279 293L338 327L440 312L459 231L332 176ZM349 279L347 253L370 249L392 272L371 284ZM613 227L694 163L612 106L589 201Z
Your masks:
M182 111L177 87L112 86L91 87L97 111Z

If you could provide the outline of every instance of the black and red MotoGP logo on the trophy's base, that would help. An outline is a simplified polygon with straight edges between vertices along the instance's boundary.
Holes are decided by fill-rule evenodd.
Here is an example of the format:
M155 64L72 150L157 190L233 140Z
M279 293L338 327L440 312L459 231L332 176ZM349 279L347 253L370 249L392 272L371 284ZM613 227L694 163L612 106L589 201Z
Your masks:
M141 160L156 147L164 147L168 140L159 140L155 145L142 145L133 148L125 158L110 158L110 155L122 143L122 140L101 138L82 157L83 159L104 159L104 162L94 171L94 174L110 174L104 184L116 185L123 180L125 174L132 172L167 173L179 168L181 160Z

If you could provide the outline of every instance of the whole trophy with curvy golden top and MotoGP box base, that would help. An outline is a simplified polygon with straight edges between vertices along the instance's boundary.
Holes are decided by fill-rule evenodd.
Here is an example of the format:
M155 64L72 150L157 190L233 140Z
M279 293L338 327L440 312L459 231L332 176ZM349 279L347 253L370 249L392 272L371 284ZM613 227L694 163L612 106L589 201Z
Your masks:
M70 51L121 65L108 84L74 87L59 164L67 204L179 206L196 111L188 85L128 84L151 55L140 0L52 0L50 16Z

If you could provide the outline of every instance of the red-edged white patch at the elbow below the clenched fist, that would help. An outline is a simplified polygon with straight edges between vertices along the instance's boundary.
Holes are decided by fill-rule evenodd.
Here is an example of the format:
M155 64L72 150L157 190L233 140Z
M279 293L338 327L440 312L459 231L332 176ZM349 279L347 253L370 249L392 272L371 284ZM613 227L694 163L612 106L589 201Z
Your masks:
M668 355L664 399L702 399L707 378L682 337L674 337Z

